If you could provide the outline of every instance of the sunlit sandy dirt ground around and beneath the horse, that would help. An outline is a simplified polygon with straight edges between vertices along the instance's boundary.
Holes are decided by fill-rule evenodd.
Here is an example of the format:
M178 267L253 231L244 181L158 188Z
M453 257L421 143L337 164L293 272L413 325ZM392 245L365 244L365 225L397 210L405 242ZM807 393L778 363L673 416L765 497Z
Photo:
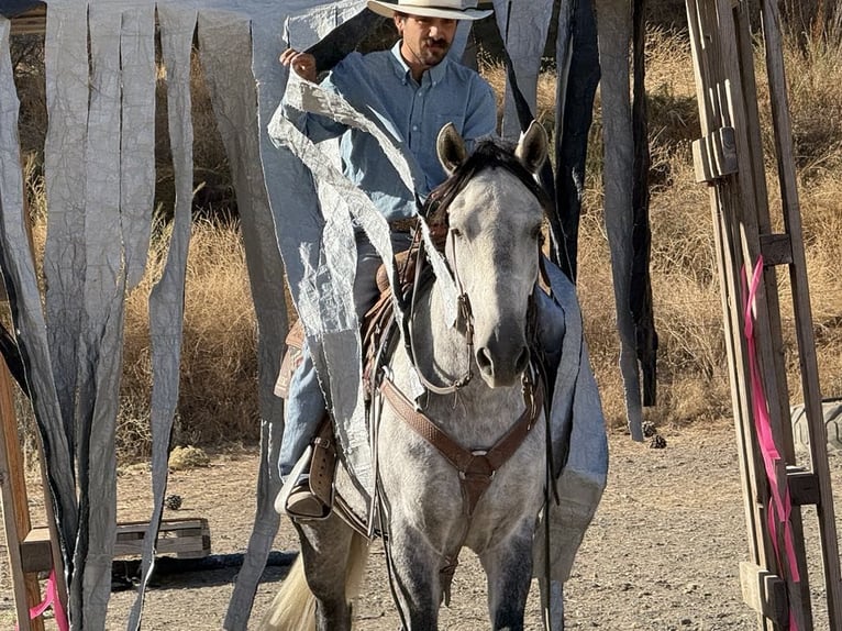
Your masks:
M739 562L747 560L746 528L733 428L664 429L666 449L609 436L609 484L566 584L567 629L622 631L753 630L755 615L742 602ZM254 514L255 451L218 454L208 468L175 472L169 492L182 497L166 517L206 517L213 554L244 551ZM842 456L831 455L834 488L842 483ZM119 478L119 519L148 516L148 473L123 469ZM32 491L31 491L32 492ZM35 494L33 494L35 495ZM837 496L840 497L839 491ZM837 502L837 512L842 507ZM805 510L811 566L815 628L830 631L815 510ZM276 550L295 551L297 540L282 522ZM485 582L470 553L456 573L451 608L442 629L487 629ZM0 540L0 628L11 628L13 600L4 541ZM159 576L147 593L146 630L221 629L236 567ZM288 571L268 567L253 610L253 623L266 610ZM530 596L528 629L541 629L536 587ZM134 601L130 589L114 591L108 629L124 629ZM356 628L398 629L385 583L383 549L373 547ZM54 628L52 621L47 628Z

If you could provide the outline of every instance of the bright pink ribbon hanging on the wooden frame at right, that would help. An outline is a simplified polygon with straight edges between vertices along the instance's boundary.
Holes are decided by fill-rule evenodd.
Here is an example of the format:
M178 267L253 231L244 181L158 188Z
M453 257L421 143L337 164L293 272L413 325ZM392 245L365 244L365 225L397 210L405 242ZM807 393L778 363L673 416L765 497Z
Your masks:
M778 547L778 525L784 527L784 546L786 549L787 564L789 567L789 574L794 583L800 580L798 574L798 562L795 554L795 544L793 536L793 524L789 521L789 516L793 511L793 501L789 497L789 485L784 481L783 489L777 476L777 464L780 462L780 454L775 446L775 439L772 435L772 423L768 416L768 401L766 400L765 389L763 388L763 378L761 377L760 368L757 367L757 352L754 342L754 314L752 307L754 305L754 298L757 292L757 287L763 274L763 256L757 258L757 264L754 267L752 274L752 283L749 288L749 294L745 297L745 341L749 345L749 372L752 384L752 410L754 411L754 430L757 434L757 443L760 444L761 454L763 456L763 465L766 469L766 478L768 479L769 488L772 490L772 508L766 513L768 521L768 529L772 539L772 545L775 549L775 556L780 565L780 550ZM743 280L743 295L745 295L745 270L741 275ZM789 609L789 629L790 631L798 631L798 624L795 620L795 613Z

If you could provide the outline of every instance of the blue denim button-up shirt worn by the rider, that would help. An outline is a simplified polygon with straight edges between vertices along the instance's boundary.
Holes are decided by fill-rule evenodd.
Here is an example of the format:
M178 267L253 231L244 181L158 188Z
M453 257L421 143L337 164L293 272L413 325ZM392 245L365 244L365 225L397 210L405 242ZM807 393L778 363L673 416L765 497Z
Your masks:
M495 133L497 102L491 87L474 70L445 58L430 68L419 85L400 56L400 42L390 51L361 55L351 53L340 62L322 86L341 95L357 111L379 119L418 160L425 181L422 197L445 179L435 153L435 140L452 122L468 150L477 139ZM324 117L307 114L296 121L313 142L342 135L344 174L364 191L384 217L394 221L414 214L412 191L377 141L365 132L347 129Z

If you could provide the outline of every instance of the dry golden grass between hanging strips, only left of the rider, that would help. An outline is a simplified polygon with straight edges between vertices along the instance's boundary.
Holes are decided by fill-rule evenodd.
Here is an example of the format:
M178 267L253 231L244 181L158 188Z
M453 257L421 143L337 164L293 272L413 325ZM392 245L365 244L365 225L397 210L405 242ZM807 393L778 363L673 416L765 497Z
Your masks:
M167 241L153 242L141 285L126 301L121 452L149 449L151 345L147 305ZM236 224L193 222L185 284L181 378L175 444L254 441L259 432L254 308Z

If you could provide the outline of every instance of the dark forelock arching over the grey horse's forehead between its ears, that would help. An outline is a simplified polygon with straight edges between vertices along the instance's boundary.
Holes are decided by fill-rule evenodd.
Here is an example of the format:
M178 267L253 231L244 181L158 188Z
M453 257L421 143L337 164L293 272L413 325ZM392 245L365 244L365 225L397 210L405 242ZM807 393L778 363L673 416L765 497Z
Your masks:
M430 192L425 204L428 223L446 226L450 219L448 209L453 200L475 177L494 168L500 168L514 175L538 199L544 214L549 214L552 201L544 188L514 155L514 145L505 141L488 139L479 141L474 152L453 171L451 177Z

